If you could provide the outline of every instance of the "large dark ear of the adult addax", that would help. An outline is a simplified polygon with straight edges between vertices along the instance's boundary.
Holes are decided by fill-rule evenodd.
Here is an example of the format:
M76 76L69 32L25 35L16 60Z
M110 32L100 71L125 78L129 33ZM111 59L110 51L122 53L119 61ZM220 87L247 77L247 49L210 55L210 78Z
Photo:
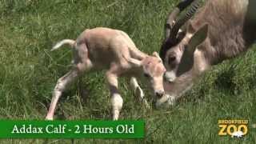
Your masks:
M207 34L208 34L208 24L205 24L197 32L195 32L192 38L190 38L190 42L187 45L188 51L190 53L194 53L194 50L197 48L197 46L206 40Z

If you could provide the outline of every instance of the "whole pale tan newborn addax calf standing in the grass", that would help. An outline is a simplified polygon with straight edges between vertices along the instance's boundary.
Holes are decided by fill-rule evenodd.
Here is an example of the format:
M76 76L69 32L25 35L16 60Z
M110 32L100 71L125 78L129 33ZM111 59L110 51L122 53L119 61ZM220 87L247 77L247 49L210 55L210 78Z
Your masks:
M141 78L144 74L154 89L154 95L159 98L164 94L162 78L166 69L161 58L156 52L153 56L142 53L129 36L121 30L102 27L85 30L76 41L62 40L54 46L53 50L63 44L69 44L74 50L74 67L58 79L46 119L54 118L58 98L68 85L78 78L79 74L90 70L106 69L106 81L110 86L114 120L118 119L123 103L118 92L118 77L129 76L134 89L137 89L139 87L135 78ZM142 93L142 90L139 89L139 91ZM143 94L141 96L143 97Z

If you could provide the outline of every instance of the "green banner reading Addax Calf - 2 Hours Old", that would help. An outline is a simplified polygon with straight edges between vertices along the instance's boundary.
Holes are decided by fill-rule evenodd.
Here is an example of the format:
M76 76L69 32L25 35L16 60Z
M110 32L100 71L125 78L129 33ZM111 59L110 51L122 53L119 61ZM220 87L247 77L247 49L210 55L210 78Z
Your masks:
M0 138L143 138L144 123L0 120Z

